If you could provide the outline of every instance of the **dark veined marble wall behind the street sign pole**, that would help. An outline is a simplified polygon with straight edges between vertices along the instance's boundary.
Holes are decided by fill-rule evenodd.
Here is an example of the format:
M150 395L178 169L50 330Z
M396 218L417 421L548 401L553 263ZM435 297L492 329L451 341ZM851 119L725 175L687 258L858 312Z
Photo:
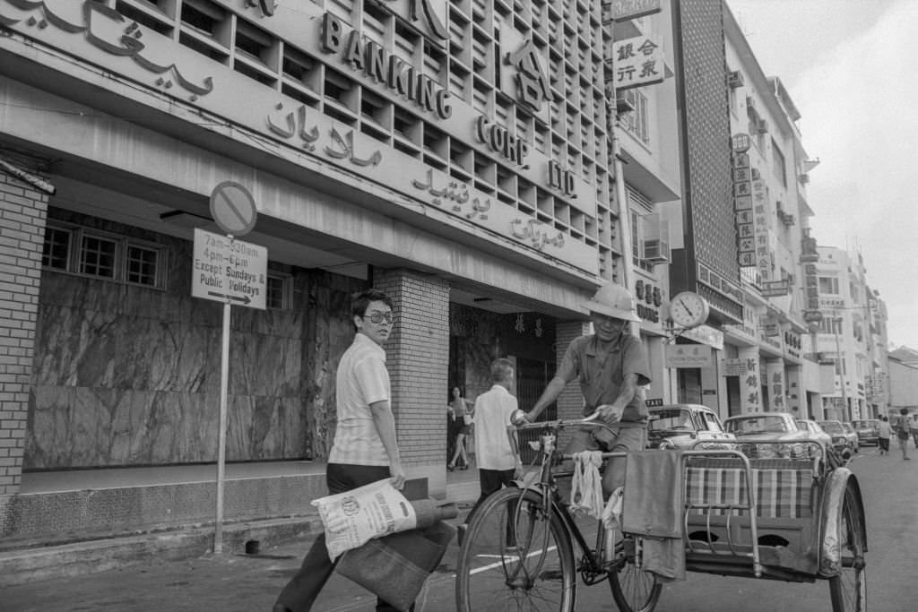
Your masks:
M191 297L192 243L53 206L51 217L160 244L168 280L42 273L26 469L216 461L222 305ZM228 460L324 459L350 295L366 283L271 266L292 275L294 305L232 310Z

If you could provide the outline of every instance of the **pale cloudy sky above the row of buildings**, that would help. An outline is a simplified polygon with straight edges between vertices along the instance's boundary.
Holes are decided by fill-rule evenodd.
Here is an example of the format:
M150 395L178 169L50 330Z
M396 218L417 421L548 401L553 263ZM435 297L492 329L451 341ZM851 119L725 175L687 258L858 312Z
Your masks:
M820 160L807 186L812 236L862 253L890 344L918 349L918 0L727 5Z

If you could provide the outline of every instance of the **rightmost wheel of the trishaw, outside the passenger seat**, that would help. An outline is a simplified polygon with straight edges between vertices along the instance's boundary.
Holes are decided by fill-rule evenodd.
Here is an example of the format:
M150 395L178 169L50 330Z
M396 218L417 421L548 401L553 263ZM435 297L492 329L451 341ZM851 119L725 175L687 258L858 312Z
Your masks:
M867 609L867 534L864 533L855 489L845 488L842 520L838 539L841 546L842 569L829 578L833 612L864 612Z

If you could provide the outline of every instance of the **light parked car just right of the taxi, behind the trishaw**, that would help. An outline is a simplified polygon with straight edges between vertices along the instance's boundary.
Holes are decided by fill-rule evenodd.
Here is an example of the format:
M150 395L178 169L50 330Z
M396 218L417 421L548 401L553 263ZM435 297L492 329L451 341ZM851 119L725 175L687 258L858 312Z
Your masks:
M736 436L739 450L747 457L808 457L810 432L801 429L785 412L761 412L723 419L723 428Z

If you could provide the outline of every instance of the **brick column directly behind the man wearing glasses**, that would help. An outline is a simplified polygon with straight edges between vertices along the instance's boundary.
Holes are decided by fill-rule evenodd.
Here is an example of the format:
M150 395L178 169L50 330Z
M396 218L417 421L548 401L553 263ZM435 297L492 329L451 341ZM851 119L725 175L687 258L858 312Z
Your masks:
M375 269L373 286L392 298L397 315L385 349L402 462L436 466L445 478L449 284L409 270Z

